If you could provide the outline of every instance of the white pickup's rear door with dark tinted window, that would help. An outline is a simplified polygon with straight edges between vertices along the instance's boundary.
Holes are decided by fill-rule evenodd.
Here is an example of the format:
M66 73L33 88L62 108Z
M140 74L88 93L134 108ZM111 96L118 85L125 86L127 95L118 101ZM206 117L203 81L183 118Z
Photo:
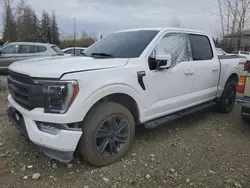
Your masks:
M195 76L193 95L197 103L202 103L216 96L220 62L207 36L189 34L189 39L193 56L191 71Z

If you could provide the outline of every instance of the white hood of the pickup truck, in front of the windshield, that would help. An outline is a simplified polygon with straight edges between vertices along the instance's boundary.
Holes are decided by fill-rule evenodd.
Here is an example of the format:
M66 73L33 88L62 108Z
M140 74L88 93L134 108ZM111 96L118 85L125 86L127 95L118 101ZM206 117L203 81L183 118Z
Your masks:
M127 62L128 59L124 58L47 57L15 62L9 66L9 70L30 77L60 78L69 72L122 67Z

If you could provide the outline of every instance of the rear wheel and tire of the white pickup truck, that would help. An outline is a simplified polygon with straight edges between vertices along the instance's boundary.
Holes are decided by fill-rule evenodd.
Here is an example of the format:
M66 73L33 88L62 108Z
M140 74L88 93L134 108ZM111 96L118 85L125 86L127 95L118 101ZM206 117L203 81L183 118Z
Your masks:
M236 79L229 80L226 83L223 94L217 102L217 111L219 113L226 114L232 111L236 100L237 84Z

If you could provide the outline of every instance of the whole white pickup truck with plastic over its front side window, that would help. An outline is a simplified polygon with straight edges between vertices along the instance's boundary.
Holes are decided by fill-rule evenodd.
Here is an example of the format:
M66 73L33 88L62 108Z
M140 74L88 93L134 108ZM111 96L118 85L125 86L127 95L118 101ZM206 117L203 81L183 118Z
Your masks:
M128 152L136 125L155 128L212 106L230 112L245 61L218 58L199 31L118 31L81 57L12 64L8 115L48 156L67 163L78 150L105 166Z

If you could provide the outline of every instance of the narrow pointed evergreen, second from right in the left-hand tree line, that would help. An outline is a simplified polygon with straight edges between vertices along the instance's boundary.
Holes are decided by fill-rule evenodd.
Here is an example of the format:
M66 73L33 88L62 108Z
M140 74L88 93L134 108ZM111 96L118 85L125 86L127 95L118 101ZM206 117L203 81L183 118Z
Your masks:
M41 18L41 42L52 43L51 19L49 14L44 10Z

